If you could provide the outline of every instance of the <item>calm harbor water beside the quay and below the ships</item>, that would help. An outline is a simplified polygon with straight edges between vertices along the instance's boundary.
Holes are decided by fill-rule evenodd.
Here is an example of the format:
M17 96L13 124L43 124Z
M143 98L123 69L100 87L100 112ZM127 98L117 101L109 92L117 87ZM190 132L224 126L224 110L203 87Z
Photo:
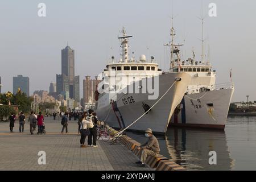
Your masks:
M127 135L147 140L143 134ZM256 117L228 117L225 131L169 128L158 140L160 154L189 170L256 169ZM216 151L216 165L209 164L209 151Z

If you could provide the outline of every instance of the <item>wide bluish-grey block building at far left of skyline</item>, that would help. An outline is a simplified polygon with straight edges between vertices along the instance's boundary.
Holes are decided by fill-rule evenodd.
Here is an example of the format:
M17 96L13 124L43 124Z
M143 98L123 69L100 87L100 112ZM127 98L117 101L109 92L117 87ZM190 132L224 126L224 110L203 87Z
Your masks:
M13 77L13 93L16 94L18 89L30 96L30 78L18 75Z

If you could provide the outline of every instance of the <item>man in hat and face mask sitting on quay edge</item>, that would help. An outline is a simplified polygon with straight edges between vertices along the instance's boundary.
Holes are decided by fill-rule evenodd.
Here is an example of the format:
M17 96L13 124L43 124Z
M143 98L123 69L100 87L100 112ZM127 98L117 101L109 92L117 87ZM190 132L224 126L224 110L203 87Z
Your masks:
M138 150L142 150L141 161L136 163L140 167L145 167L145 161L148 155L156 156L160 152L158 139L152 134L151 129L145 131L145 136L148 137L147 142L138 147Z

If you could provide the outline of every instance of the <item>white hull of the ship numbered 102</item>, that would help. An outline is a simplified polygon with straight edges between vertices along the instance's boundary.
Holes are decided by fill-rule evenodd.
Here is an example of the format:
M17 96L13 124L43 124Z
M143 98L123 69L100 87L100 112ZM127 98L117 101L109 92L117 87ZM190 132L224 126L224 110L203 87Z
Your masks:
M233 92L226 88L184 96L170 126L224 130Z

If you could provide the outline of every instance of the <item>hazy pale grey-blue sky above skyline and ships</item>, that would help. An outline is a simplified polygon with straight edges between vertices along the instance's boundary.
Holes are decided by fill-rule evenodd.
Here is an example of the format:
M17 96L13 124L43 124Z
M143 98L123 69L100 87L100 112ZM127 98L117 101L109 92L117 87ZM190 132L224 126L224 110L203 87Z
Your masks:
M203 3L202 3L203 2ZM46 17L38 4L46 4ZM216 3L217 17L209 17L209 3ZM48 90L61 73L61 49L75 49L75 73L80 75L80 97L85 76L97 76L111 56L119 58L122 27L135 58L154 56L168 69L163 44L170 39L174 15L176 43L184 43L185 57L201 55L201 22L205 15L205 49L216 69L216 83L230 82L234 101L256 101L256 1L255 0L23 0L0 1L0 76L2 92L13 92L13 76L30 77L30 93Z

